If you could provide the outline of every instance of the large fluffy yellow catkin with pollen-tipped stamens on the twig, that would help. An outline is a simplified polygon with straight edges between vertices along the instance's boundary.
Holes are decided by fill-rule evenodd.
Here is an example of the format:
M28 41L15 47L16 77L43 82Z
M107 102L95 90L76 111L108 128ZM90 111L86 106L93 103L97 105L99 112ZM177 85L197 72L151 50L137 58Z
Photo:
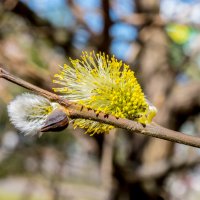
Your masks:
M66 99L116 117L148 124L157 109L145 98L134 72L122 61L104 53L83 52L80 59L70 59L53 82L53 88ZM111 125L86 119L76 119L74 127L87 129L87 133L108 132Z

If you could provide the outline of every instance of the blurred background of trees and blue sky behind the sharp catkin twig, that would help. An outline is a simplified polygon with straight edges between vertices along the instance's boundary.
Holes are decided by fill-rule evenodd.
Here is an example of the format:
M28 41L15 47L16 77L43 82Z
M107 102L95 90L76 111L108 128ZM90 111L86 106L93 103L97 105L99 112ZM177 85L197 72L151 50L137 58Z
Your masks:
M198 0L0 0L0 63L13 74L51 91L83 50L128 63L157 123L200 134ZM121 129L24 137L6 106L25 91L0 80L1 200L200 199L197 148Z

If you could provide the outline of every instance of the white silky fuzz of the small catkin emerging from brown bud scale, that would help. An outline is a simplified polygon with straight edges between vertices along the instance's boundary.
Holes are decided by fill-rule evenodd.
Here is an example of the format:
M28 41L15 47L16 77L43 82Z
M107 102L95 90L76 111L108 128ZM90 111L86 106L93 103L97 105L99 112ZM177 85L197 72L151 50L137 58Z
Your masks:
M48 108L54 105L46 98L25 93L17 96L8 105L11 123L25 135L40 133L48 116Z

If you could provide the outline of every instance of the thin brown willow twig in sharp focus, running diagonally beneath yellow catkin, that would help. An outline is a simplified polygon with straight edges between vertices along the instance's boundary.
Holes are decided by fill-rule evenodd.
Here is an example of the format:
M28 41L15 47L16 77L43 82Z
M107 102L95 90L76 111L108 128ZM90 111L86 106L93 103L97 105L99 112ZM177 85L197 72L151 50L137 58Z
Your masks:
M118 128L123 128L137 134L152 136L193 147L200 147L199 137L194 137L177 131L173 131L164 128L162 126L159 126L156 123L151 123L146 126L143 126L142 124L129 119L117 118L113 115L105 114L102 112L97 114L95 110L85 108L82 105L70 102L52 92L41 89L35 85L32 85L18 77L13 76L12 74L8 73L6 70L2 68L0 68L0 78L6 79L12 83L15 83L28 90L31 90L32 92L41 95L49 99L50 101L55 101L61 104L62 106L68 109L69 117L72 119L75 118L90 119L105 124L110 124Z

